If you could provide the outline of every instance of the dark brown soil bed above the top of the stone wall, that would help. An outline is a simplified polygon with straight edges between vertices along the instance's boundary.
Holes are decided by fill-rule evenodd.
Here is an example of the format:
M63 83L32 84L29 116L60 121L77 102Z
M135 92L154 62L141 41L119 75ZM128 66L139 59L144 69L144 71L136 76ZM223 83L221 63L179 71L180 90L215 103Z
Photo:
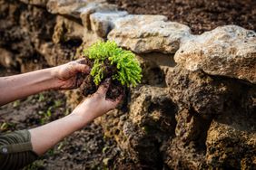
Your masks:
M130 14L163 14L203 33L226 24L256 30L255 0L108 0Z

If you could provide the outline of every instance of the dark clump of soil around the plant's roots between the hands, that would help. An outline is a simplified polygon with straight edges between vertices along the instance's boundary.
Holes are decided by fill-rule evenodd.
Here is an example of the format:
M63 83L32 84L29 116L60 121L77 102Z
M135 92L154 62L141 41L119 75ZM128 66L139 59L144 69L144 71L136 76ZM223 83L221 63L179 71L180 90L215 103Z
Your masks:
M85 56L84 58L85 58L85 64L87 64L90 68L92 68L94 65L94 61L88 59ZM105 60L103 68L104 68L103 81L106 79L110 79L110 86L106 93L106 98L113 99L113 100L117 99L120 95L124 94L124 91L126 91L127 88L125 88L125 86L123 86L118 80L112 80L112 76L117 72L115 65L111 65L110 61ZM98 90L100 85L96 85L94 83L94 77L92 75L89 74L89 75L83 75L83 76L84 76L84 82L81 86L81 91L84 97L87 97L91 94L94 94L94 92Z

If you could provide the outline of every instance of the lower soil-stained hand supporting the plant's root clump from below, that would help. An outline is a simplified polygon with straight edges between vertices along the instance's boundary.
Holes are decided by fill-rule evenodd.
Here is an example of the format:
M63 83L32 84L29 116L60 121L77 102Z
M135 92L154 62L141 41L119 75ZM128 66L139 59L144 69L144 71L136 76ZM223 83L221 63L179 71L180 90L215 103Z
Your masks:
M85 119L92 121L94 118L100 117L111 109L115 109L123 98L120 95L117 99L106 99L106 92L109 88L110 80L104 80L99 89L89 98L80 103L72 114L79 115Z

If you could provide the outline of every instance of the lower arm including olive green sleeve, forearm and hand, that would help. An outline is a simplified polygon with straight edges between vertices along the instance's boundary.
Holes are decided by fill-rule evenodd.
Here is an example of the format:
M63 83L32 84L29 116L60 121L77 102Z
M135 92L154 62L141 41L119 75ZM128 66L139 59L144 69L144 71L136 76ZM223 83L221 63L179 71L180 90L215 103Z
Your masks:
M114 109L122 96L116 100L106 99L107 90L108 83L105 82L93 96L85 99L70 115L64 118L42 127L25 130L23 134L13 132L8 135L9 137L0 136L0 169L6 169L6 167L8 167L7 169L17 169L32 163L37 156L43 155L48 149L63 140L64 137L86 126L94 118ZM15 137L11 137L15 133ZM15 138L15 140L12 138ZM20 147L20 145L23 146ZM14 146L18 146L17 149L10 149ZM13 152L3 153L1 149L4 148Z

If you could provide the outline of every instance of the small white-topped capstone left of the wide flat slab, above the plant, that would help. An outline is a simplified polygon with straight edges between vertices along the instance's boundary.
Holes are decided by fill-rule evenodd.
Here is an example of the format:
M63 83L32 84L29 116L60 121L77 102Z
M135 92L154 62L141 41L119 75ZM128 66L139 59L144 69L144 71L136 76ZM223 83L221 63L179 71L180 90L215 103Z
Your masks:
M126 11L118 12L102 12L90 15L92 30L101 37L106 37L107 34L113 29L113 22L128 13Z

